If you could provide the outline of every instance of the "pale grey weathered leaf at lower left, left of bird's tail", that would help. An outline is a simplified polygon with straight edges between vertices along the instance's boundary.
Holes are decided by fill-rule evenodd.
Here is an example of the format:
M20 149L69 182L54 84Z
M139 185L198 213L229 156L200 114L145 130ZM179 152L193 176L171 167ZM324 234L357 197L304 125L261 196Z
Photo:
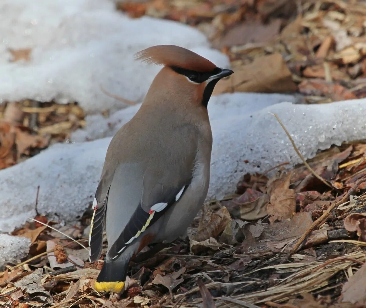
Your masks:
M28 293L34 300L52 303L51 294L42 286L41 277L43 269L37 268L33 273L15 282L14 285L24 292Z

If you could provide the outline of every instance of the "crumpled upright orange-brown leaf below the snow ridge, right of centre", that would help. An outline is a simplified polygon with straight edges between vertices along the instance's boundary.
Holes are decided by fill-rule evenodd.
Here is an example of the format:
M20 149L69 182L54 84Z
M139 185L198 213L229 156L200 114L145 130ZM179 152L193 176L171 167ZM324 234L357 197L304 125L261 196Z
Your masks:
M279 179L269 179L268 194L270 203L267 205L268 215L271 224L276 220L291 218L295 214L296 199L295 190L290 189L291 172L281 175Z

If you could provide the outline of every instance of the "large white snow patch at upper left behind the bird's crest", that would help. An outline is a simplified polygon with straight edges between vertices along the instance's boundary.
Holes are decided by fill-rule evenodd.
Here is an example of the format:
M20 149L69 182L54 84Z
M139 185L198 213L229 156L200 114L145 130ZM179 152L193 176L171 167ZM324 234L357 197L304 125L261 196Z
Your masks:
M3 0L0 12L0 103L76 101L87 113L126 106L102 88L142 101L160 67L133 56L153 45L180 45L218 66L229 65L227 56L210 49L193 27L130 19L109 0ZM29 62L10 62L10 50L28 48Z

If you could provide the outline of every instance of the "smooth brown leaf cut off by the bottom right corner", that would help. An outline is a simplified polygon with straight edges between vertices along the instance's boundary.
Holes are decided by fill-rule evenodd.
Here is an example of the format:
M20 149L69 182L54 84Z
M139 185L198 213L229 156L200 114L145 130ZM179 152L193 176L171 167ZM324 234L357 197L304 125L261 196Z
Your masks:
M366 263L352 275L342 288L342 301L352 304L366 304Z

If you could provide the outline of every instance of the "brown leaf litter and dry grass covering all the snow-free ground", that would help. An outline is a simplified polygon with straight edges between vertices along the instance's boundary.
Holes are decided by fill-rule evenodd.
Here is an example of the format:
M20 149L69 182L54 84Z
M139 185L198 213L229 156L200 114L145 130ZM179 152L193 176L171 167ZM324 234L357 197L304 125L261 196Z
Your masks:
M291 89L308 103L366 97L362 1L147 0L123 1L118 8L134 18L177 20L204 31L239 73L217 93ZM13 50L12 57L27 61L29 51ZM258 63L269 74L252 84L248 70ZM258 82L262 78L265 84ZM4 121L6 113L13 120ZM0 106L0 117L0 168L67 140L85 124L79 106L53 102L8 103ZM31 246L22 262L12 260L0 272L0 305L363 307L365 158L363 141L318 153L308 163L325 182L304 165L285 172L286 162L272 177L243 174L235 195L205 204L188 238L131 262L120 297L93 289L103 260L89 263L80 246L87 245L91 210L75 225L37 217L54 229L29 221L12 233Z

